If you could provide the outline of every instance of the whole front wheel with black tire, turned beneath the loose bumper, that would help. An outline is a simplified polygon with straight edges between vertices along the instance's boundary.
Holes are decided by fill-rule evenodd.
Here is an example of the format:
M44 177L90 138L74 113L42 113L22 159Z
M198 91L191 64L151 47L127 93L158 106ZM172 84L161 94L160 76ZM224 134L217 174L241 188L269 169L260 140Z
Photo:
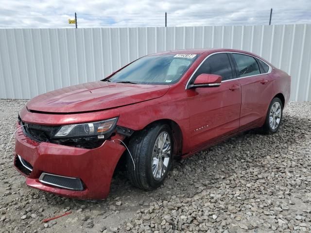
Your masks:
M154 124L136 133L130 142L127 172L131 183L141 189L158 188L171 169L173 159L173 137L166 124Z

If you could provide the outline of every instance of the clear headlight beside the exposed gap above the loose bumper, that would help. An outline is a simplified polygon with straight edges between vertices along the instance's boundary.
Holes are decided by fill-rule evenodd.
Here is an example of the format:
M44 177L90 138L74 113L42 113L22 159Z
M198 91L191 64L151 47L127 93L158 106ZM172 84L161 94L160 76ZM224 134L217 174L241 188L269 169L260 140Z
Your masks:
M116 128L118 117L84 124L64 125L55 133L54 138L107 138Z

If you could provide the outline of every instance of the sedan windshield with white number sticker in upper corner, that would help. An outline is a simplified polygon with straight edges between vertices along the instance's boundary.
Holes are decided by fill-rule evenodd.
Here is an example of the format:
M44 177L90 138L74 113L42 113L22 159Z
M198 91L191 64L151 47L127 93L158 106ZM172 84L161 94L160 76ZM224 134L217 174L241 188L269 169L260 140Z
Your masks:
M176 83L196 58L197 54L166 54L142 57L112 75L108 81L139 84ZM107 81L107 79L103 81Z

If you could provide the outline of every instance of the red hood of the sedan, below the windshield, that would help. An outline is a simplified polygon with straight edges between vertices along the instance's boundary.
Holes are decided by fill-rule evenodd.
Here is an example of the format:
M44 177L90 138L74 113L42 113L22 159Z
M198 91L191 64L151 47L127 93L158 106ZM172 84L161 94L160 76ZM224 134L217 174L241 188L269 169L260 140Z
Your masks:
M169 88L169 85L97 81L39 95L27 103L27 108L29 111L47 113L99 111L159 98Z

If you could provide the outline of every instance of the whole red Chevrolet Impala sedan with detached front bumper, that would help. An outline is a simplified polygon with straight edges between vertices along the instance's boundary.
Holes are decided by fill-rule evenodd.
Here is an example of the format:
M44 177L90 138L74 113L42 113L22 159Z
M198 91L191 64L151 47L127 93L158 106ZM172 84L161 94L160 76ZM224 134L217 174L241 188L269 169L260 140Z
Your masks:
M125 159L133 185L155 189L173 158L253 128L275 133L290 87L288 74L241 50L144 56L101 81L30 100L18 117L14 163L31 187L104 199Z

